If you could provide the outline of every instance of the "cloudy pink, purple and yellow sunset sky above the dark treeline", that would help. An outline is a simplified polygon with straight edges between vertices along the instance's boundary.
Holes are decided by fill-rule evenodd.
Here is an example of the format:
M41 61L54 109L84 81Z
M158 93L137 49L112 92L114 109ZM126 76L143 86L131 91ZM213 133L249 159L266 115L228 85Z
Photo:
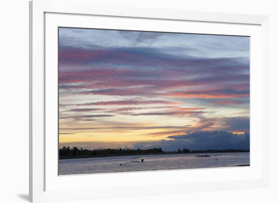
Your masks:
M250 38L59 28L59 146L249 149Z

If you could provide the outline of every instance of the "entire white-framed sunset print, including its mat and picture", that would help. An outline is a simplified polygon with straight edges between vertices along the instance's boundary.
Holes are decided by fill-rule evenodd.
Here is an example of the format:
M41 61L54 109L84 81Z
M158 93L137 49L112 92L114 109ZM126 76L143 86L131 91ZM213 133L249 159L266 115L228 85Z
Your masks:
M267 185L268 17L30 2L31 201Z

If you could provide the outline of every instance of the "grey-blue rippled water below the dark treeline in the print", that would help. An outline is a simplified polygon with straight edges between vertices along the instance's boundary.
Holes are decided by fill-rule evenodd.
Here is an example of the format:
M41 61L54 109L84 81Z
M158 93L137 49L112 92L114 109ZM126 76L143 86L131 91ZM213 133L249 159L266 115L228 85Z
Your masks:
M250 161L249 153L206 154L211 157L196 157L197 155L138 155L60 160L59 175L231 167L249 165ZM144 162L141 162L141 159L144 159Z

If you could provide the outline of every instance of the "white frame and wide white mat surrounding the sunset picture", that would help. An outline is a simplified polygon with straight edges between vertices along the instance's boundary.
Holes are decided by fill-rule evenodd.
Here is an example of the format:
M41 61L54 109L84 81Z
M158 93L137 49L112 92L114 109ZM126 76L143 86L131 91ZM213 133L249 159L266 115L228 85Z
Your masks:
M55 156L58 157L56 151L58 142L55 136L46 136L49 131L55 132L55 126L52 128L53 126L45 124L55 120L56 106L58 106L55 103L57 83L54 82L51 85L48 82L56 80L55 74L58 68L54 59L55 55L57 56L55 48L57 43L54 43L57 33L53 30L57 26L65 25L88 27L94 18L98 18L98 21L103 23L102 18L109 18L109 21L116 19L115 22L118 24L104 25L110 28L114 26L115 29L120 29L119 26L132 29L132 26L137 26L132 22L139 21L149 23L146 23L145 27L136 27L137 29L160 29L148 27L148 24L152 25L152 21L160 24L161 21L161 27L162 23L164 25L168 23L166 28L163 28L167 31L180 29L178 24L186 23L191 32L195 33L251 36L251 166L58 177L57 159L53 159ZM30 2L30 201L81 200L267 187L269 182L268 24L267 16L151 8L115 8L95 5L89 0L34 0ZM256 50L252 52L252 48ZM55 93L51 95L52 92ZM228 177L226 177L227 174L229 174ZM184 178L178 178L180 176ZM97 182L98 186L91 184L92 180ZM108 181L109 187L106 186ZM77 186L69 186L70 182L76 183ZM82 183L81 186L80 183Z

